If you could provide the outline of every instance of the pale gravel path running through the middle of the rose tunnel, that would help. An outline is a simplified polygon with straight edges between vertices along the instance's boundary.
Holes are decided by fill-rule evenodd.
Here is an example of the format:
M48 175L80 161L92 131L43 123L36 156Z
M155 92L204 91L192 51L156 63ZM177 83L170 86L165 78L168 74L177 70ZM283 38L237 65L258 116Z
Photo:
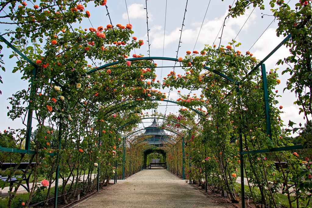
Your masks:
M224 208L163 168L138 172L75 207Z

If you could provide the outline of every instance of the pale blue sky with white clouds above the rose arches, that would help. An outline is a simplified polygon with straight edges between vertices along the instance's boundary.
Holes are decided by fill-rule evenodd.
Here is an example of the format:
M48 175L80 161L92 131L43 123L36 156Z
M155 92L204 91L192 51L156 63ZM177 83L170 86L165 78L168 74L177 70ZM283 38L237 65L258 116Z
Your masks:
M296 2L297 1L291 0L290 5L294 5ZM126 25L130 21L130 23L133 25L134 36L137 36L139 39L143 39L145 42L143 47L135 51L136 54L144 54L145 56L148 56L146 10L144 9L145 3L146 2L143 0L108 0L107 6L109 8L110 17L114 25L118 23ZM225 16L227 15L229 5L232 5L232 3L233 0L224 0L223 2L221 0L189 0L182 31L182 43L181 47L179 48L178 57L184 57L185 51L188 50L193 51L193 49L195 49L201 51L205 44L212 45L215 40L215 43L218 45L220 41L218 38L220 37L220 34L218 34L218 32L222 26ZM265 1L265 3L267 2ZM151 44L150 56L176 57L185 7L186 0L147 1L147 11L149 17L148 25L150 29L149 41ZM90 22L92 23L93 27L106 26L110 23L104 6L93 7L93 3L90 3L86 9L91 13ZM207 14L205 16L206 11ZM269 24L273 21L274 17L265 15L262 18L261 13L271 15L269 5L267 5L266 10L260 10L259 8L253 10L253 8L250 8L247 10L246 15L244 16L234 19L227 19L225 22L226 26L223 31L221 43L223 45L227 45L228 42L237 36L236 41L242 43L239 50L248 51L250 47L256 42L250 51L257 59L263 59L275 48L276 45L278 45L278 43L280 43L280 41L283 40L283 37L276 36L275 29L277 27L277 22L273 22L270 27L268 27ZM74 26L89 28L91 27L90 22L88 19L84 19L81 24L77 23L74 24ZM244 27L242 27L243 25ZM266 29L267 27L268 29ZM6 28L1 27L0 32L3 32L4 29ZM256 41L262 33L263 35L258 41ZM195 45L196 40L197 43ZM20 80L20 74L11 73L12 67L15 65L16 61L8 59L8 56L11 53L12 51L10 49L5 48L2 50L2 54L5 55L3 60L6 63L5 67L7 71L0 72L4 82L4 84L0 84L0 90L2 91L2 95L0 95L0 116L2 118L0 120L1 131L6 129L8 126L21 127L20 120L11 121L7 119L7 106L9 106L7 98L16 91L25 88L28 85L28 83L22 82ZM282 46L277 52L275 52L273 56L271 56L270 59L265 62L266 69L270 70L275 68L276 61L288 56L288 54L288 49L285 46ZM155 61L155 63L157 63L158 66L174 65L173 62L169 61ZM283 71L283 67L284 66L280 66L280 69L278 70L279 73ZM158 78L163 78L170 70L172 70L172 68L157 68ZM176 68L175 71L177 74L179 73L178 68ZM277 87L279 93L282 95L282 97L279 98L280 103L277 105L284 106L283 111L285 112L281 115L282 120L284 120L285 124L288 123L289 119L295 121L296 123L304 123L303 115L299 115L298 107L293 105L293 102L296 100L295 95L287 90L283 93L283 89L286 86L285 83L288 77L289 75L280 75L281 84ZM168 94L168 89L164 89L162 91ZM187 90L181 90L181 92L184 94L189 93ZM193 93L198 92L194 91L191 94ZM177 98L178 94L176 90L170 92L169 99L176 100ZM166 112L168 114L177 112L177 110L180 108L179 106L168 104L166 110L166 103L160 103L164 106L160 106L158 108L158 112ZM146 112L151 114L152 110ZM150 125L150 123L144 123L145 127L148 125Z

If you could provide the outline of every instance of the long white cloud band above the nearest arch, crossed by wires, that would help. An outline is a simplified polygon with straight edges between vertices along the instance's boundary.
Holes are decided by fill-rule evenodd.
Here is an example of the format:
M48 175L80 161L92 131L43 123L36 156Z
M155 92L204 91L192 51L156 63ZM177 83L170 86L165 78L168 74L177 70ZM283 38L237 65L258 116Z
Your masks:
M247 15L249 15L249 12L246 12ZM209 20L205 22L202 26L202 29L200 31L200 35L198 37L197 43L201 44L212 44L212 42L215 40L215 37L217 36L220 27L224 21L224 18L227 15L227 11L224 13L222 17L214 18L212 20ZM232 40L233 34L236 34L238 32L238 28L240 28L244 22L246 21L247 15L240 16L238 18L230 18L226 21L226 26L224 28L223 34L222 34L222 40L225 40L223 42L229 42ZM253 13L249 17L248 21L246 22L245 26L243 27L243 31L247 30L251 23L255 23L256 14ZM195 27L194 29L183 29L181 41L182 42L194 42L194 39L196 40L199 30L200 30L201 22L194 22L192 23L192 27ZM181 34L181 27L177 27L174 30L168 32L166 31L165 35L165 47L168 46L170 43L178 42ZM218 35L221 36L221 33ZM151 35L151 47L152 48L162 48L163 47L163 31L154 32ZM217 39L218 40L218 39Z

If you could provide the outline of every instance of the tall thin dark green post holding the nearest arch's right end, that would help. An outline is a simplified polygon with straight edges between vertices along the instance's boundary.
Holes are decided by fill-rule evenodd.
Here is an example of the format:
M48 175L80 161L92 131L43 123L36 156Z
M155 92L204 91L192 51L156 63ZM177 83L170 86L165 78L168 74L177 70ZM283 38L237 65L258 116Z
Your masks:
M236 92L239 94L239 88L236 87ZM237 104L239 106L239 109L241 110L241 98L239 95L237 95ZM242 123L242 115L241 115L241 123ZM241 167L241 208L245 208L245 187L244 187L244 157L243 157L243 139L242 139L242 133L241 133L241 125L238 129L239 134L239 159L240 159L240 167Z

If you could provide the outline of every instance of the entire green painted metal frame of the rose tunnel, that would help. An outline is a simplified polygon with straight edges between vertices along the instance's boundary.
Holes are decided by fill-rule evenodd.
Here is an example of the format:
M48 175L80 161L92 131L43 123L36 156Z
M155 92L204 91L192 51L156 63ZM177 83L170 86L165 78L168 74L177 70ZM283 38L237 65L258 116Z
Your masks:
M274 54L282 45L284 45L284 43L290 39L291 34L289 34L287 37L285 37L285 39L283 41L280 42L279 45L277 45L273 51L271 51L263 60L260 61L260 63L258 65L256 65L256 67L251 70L241 81L236 82L234 80L232 80L230 77L216 71L216 70L210 70L209 67L204 66L203 68L209 71L212 71L213 73L222 76L223 78L225 78L226 80L234 83L236 86L238 86L242 81L244 81L249 75L251 75L254 71L256 71L260 66L261 66L261 73L262 73L262 82L263 82L263 93L264 93L264 103L265 103L265 114L266 114L266 131L267 131L267 135L271 138L271 120L270 120L270 109L269 109L269 100L268 100L268 89L267 89L267 80L266 80L266 70L265 70L265 65L264 62L272 55ZM0 40L3 41L7 46L9 46L13 51L15 51L18 55L20 55L22 58L24 58L28 63L30 63L32 66L34 66L34 69L32 70L32 79L31 79L31 95L34 93L34 87L33 87L33 81L36 79L37 76L37 65L35 63L33 63L27 56L25 56L21 51L19 51L15 46L13 46L9 41L7 41L2 35L0 35ZM135 60L169 60L169 61L175 61L178 62L178 59L176 58L169 58L169 57L140 57L140 58L131 58L131 59L127 59L129 61L135 61ZM112 66L112 65L116 65L119 64L119 61L115 61L112 63L108 63L105 65L102 65L96 69L90 70L89 72L87 72L86 74L91 74L95 71L104 69L106 67ZM51 79L53 82L56 83L56 85L59 85L56 80L54 80L53 78ZM236 88L238 89L238 88ZM174 101L170 101L170 100L165 100L165 102L172 102L172 103L176 103ZM238 101L239 103L240 101ZM183 105L182 105L183 106ZM194 110L194 109L193 109ZM196 110L194 110L196 112ZM198 114L199 112L197 112ZM202 114L201 114L202 115ZM149 118L143 118L143 119L149 119ZM143 120L140 119L140 120ZM165 119L165 118L158 118L158 119ZM169 119L166 119L169 120ZM136 121L139 121L139 119L128 122L124 125L122 125L121 127L119 127L117 129L117 131L120 128L123 128L124 126L130 124L130 123L134 123ZM174 121L173 121L174 122ZM175 122L177 123L177 122ZM180 124L180 123L179 123ZM16 149L16 148L5 148L5 147L0 147L0 151L2 152L16 152L16 153L27 153L27 154L36 154L37 151L32 151L30 150L30 135L31 135L31 125L32 125L32 106L31 104L29 104L28 106L28 115L27 115L27 133L26 133L26 144L25 144L25 149ZM188 129L186 126L180 124L181 126L183 126L184 128ZM59 128L59 150L61 148L61 123L60 123L60 128ZM189 130L189 129L188 129ZM190 134L190 132L189 132ZM190 135L189 135L190 136ZM184 137L183 137L184 140ZM239 128L239 146L240 146L240 159L241 159L241 177L244 177L244 172L243 172L243 167L244 167L244 163L243 163L243 155L244 154L256 154L256 153L263 153L263 152L276 152L276 151L287 151L287 150L295 150L295 149L304 149L304 147L302 145L294 145L294 146L285 146L285 147L279 147L279 148L271 148L271 149L260 149L260 150L253 150L253 151L242 151L242 135L241 135L241 128ZM184 147L184 143L183 143L183 147ZM124 153L125 154L125 138L124 138ZM55 153L50 153L49 155L53 156L53 155L57 155ZM58 155L57 155L58 156ZM59 156L58 156L59 157ZM184 156L183 156L184 159ZM123 160L124 160L124 155L123 155ZM124 166L124 161L123 161L123 166ZM115 167L117 168L117 165L115 164ZM55 202L54 202L54 207L57 207L57 194L58 194L58 175L59 175L59 163L56 169L56 186L55 186ZM99 167L98 167L98 171L99 171ZM124 168L123 168L123 177L124 177ZM114 183L115 180L117 179L117 174L115 172L115 177L114 177ZM242 208L245 207L245 200L244 200L244 180L241 180L242 184L241 184L241 195L242 195Z

